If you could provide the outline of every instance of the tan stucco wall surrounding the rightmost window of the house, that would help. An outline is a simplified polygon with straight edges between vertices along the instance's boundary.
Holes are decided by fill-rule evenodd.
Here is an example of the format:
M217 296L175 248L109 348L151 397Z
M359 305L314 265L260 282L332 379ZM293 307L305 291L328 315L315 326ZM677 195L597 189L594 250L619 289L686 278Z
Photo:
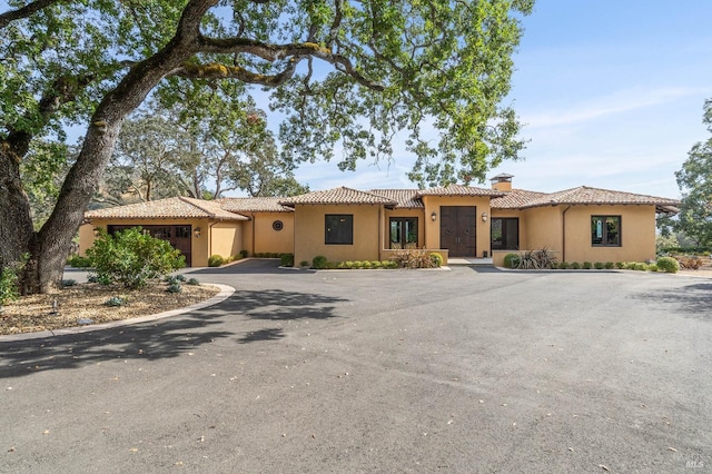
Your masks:
M591 216L621 216L621 247L591 245ZM566 219L566 261L645 261L655 258L655 206L572 206Z

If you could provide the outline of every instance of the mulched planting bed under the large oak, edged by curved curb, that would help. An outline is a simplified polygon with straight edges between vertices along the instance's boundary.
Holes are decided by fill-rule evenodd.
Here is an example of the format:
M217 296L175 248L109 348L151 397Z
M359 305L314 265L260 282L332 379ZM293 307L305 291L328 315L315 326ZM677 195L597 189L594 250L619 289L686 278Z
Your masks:
M23 296L3 306L0 335L149 316L195 305L219 293L211 285L182 285L176 293L168 292L168 287L166 282L151 282L140 289L87 283L66 286L53 294Z

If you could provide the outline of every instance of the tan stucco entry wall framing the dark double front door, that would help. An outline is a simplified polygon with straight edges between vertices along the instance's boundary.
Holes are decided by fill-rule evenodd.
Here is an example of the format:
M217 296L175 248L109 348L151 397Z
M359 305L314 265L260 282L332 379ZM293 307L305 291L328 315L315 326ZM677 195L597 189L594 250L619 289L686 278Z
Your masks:
M484 251L491 254L490 249L490 219L482 220L482 214L491 216L490 196L423 196L425 205L425 248L441 248L441 206L476 206L477 207L477 257ZM436 214L435 221L431 216ZM473 255L474 257L474 255Z

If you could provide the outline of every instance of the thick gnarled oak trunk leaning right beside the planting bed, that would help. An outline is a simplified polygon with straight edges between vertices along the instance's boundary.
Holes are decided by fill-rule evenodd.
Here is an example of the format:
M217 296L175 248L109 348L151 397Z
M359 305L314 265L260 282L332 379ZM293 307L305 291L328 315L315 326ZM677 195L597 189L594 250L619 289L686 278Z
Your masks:
M214 3L216 0L196 0L186 7L174 39L134 66L116 89L105 96L91 117L81 151L62 184L55 209L37 234L19 172L27 148L22 152L7 142L0 144L0 263L7 265L20 259L23 253L30 254L20 275L22 294L47 293L59 286L71 239L109 162L126 116L197 50L200 19Z

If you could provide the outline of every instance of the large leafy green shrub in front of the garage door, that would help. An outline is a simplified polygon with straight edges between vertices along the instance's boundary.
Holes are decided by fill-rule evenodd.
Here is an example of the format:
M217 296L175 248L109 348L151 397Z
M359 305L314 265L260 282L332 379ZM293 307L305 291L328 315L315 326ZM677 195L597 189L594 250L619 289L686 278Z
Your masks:
M99 283L118 283L127 288L140 288L186 265L180 250L144 234L140 227L113 235L100 231L87 256Z

